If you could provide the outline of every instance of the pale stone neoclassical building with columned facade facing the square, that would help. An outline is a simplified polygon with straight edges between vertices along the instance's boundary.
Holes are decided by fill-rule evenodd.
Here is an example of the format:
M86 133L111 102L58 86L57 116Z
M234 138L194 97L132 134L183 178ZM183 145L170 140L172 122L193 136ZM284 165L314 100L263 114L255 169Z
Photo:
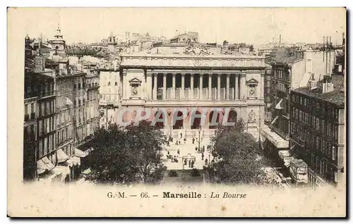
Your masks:
M198 135L198 130L201 135L212 135L216 127L209 123L215 108L223 110L217 112L219 122L229 109L230 120L242 118L248 131L258 137L264 120L264 75L265 58L261 56L222 54L217 46L201 44L158 46L121 56L119 107L150 108L155 114L163 109L167 111L162 113L167 120L164 131L189 136ZM171 122L174 108L188 111L175 124ZM195 119L190 123L191 108L205 110L206 122L200 125L201 119Z

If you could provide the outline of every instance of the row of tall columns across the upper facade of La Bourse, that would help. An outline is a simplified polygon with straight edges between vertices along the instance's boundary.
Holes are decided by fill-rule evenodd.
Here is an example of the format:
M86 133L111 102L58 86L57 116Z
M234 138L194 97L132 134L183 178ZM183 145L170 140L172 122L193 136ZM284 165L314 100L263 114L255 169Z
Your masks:
M177 86L177 75L181 76L181 86ZM186 75L190 75L186 79ZM226 85L221 87L222 75L226 75ZM246 73L161 73L148 71L146 96L150 99L203 99L237 100L246 95ZM172 77L172 86L167 88L167 77ZM208 79L208 81L205 81ZM231 82L232 79L232 82ZM188 88L186 88L186 81ZM208 84L204 85L204 82ZM179 80L180 84L180 80ZM194 84L198 85L194 87ZM216 84L213 86L212 84ZM167 89L169 96L167 97Z

